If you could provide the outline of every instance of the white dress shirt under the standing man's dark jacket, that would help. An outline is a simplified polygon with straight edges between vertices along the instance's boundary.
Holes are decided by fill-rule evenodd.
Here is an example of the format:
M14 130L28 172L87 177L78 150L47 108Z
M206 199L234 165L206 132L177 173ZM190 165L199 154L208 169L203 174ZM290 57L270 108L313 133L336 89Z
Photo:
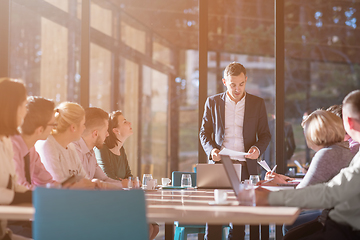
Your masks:
M245 93L246 95L246 93ZM237 103L230 99L228 93L225 98L225 137L222 148L238 152L245 152L243 126L245 114L245 95ZM232 159L245 160L244 157L231 156Z

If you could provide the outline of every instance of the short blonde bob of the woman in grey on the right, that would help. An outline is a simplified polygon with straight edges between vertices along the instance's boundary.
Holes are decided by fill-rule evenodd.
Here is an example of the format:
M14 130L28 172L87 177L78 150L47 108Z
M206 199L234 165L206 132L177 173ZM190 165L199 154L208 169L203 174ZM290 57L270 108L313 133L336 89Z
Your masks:
M309 145L327 147L344 141L342 120L332 112L316 110L302 121L301 126Z

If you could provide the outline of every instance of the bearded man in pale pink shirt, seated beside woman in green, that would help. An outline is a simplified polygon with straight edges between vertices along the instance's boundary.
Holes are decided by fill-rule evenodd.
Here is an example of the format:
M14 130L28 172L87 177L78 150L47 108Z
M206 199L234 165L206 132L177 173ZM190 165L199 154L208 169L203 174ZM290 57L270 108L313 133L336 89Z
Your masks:
M85 127L80 140L73 143L88 177L122 187L121 181L106 176L98 165L93 150L94 147L101 149L109 136L109 114L100 108L86 108Z

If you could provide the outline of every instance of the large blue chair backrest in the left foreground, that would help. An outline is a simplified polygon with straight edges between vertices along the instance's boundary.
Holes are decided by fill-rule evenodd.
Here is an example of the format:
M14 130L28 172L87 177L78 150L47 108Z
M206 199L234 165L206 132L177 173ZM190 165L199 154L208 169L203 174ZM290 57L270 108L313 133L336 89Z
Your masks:
M36 188L33 238L149 239L142 190Z

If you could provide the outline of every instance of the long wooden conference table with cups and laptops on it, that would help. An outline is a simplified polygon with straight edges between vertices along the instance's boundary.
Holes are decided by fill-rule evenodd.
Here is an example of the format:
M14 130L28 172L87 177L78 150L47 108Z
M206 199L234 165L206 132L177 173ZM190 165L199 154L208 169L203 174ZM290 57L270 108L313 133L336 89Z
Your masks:
M165 239L173 239L174 221L182 224L208 223L209 226L231 222L259 227L259 224L291 224L300 213L300 209L295 207L241 206L232 190L228 190L224 205L213 204L214 190L211 189L146 190L145 198L148 221L165 223ZM29 220L33 219L34 213L35 209L30 204L0 205L0 219ZM210 239L221 239L220 236L221 233L216 233Z

